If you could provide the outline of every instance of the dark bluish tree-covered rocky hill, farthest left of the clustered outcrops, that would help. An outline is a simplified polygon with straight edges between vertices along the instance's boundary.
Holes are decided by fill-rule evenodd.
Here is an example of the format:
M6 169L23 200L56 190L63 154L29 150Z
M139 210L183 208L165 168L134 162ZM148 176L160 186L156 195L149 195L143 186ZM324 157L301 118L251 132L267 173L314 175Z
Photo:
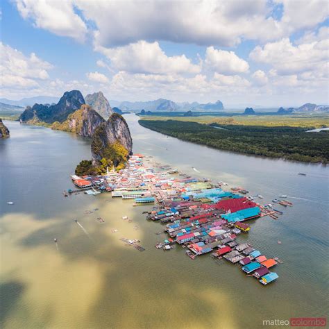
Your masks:
M71 92L65 92L55 105L35 104L32 108L28 106L19 117L19 121L27 123L46 122L47 124L53 124L55 121L63 122L71 113L81 108L84 103L85 100L81 92L71 90Z

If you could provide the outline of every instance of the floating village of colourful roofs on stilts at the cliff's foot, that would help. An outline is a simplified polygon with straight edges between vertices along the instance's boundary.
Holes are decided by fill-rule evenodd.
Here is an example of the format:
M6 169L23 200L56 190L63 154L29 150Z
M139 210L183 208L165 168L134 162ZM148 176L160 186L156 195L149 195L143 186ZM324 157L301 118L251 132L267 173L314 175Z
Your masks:
M237 264L246 276L262 285L278 279L273 268L282 263L279 258L264 255L251 244L238 240L239 235L251 230L248 221L265 216L278 219L282 214L276 209L278 205L292 206L285 195L261 205L255 201L262 199L259 194L247 196L248 191L241 187L228 188L228 183L192 178L142 154L132 155L126 168L119 172L108 171L105 176L93 177L74 175L71 179L78 189L68 189L65 196L81 191L94 196L108 192L112 198L133 199L133 206L153 203L152 210L143 213L147 220L162 224L159 236L167 234L156 248L170 251L176 245L185 248L192 260L208 254L217 262ZM122 219L130 221L126 216ZM136 239L121 238L121 241L139 251L145 250Z

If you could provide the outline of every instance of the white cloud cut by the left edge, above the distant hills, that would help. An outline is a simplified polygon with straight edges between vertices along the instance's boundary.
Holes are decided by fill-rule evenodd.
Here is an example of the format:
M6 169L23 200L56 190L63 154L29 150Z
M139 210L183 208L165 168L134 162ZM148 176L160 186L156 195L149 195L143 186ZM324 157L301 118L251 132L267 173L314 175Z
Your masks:
M1 87L31 88L37 81L49 78L49 62L41 60L35 53L25 56L24 53L0 42L0 83Z

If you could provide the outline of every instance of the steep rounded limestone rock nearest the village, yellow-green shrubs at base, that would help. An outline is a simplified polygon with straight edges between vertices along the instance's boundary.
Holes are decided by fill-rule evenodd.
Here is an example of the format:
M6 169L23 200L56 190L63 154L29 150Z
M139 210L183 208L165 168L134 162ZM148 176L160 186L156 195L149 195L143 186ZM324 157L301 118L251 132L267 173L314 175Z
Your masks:
M121 162L119 159L119 153L122 151L120 146L124 146L128 155L133 150L133 140L126 120L121 115L113 113L108 121L101 123L96 128L92 136L92 160L94 164L98 164L103 158L110 158L116 166L115 162L117 161L112 159L117 156L117 163Z

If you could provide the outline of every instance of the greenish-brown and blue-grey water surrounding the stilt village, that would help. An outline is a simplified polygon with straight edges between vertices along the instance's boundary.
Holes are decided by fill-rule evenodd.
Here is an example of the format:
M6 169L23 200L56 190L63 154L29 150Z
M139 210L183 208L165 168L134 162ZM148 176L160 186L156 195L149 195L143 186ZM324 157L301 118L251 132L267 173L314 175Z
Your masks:
M294 207L280 208L278 221L258 219L239 237L284 261L275 269L279 280L262 287L208 255L190 260L182 248L159 251L160 223L142 214L150 206L133 208L133 201L109 194L64 198L76 163L90 158L89 142L6 121L11 137L0 141L3 328L262 328L264 319L326 317L326 167L221 152L146 130L134 115L126 119L135 152L194 176L241 185L262 194L264 203L289 196ZM125 215L133 222L123 221ZM146 251L125 246L120 237L140 239Z

